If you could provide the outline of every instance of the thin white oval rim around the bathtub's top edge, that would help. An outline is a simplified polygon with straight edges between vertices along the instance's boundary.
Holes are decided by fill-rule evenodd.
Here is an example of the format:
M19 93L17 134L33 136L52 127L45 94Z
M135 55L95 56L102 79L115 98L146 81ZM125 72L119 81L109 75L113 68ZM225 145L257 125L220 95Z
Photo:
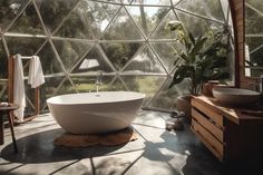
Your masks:
M53 96L53 97L48 98L46 101L47 101L47 104L51 104L51 105L100 105L100 104L125 103L125 101L133 101L133 100L139 100L139 99L144 100L146 97L146 94L138 93L138 91L99 91L99 93L134 93L134 94L140 95L140 97L135 98L135 99L125 99L125 100L116 100L116 101L98 101L98 103L75 103L74 104L74 103L53 103L53 101L51 101L52 99L61 97L61 96L71 96L71 95L80 95L80 94L97 94L97 93L92 91L92 93L76 93L76 94L65 94L65 95Z

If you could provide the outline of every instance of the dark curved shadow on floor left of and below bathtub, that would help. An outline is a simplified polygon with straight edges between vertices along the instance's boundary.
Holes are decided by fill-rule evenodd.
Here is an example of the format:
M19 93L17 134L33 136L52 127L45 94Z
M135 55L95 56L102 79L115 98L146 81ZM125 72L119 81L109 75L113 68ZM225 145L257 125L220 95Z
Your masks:
M17 154L11 143L2 149L1 157L12 163L40 164L103 156L126 145L110 147L90 146L85 148L55 146L53 139L64 133L64 129L58 128L22 137L17 139Z

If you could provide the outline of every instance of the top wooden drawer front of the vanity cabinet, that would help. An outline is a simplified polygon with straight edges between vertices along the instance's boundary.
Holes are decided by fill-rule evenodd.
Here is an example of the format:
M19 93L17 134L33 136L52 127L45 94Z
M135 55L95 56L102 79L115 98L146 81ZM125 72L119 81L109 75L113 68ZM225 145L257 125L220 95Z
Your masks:
M196 100L192 100L192 106L197 108L199 111L205 114L207 117L210 117L213 121L214 125L218 126L220 128L223 128L223 116L215 113L214 110L207 108L206 106L202 105L201 103Z

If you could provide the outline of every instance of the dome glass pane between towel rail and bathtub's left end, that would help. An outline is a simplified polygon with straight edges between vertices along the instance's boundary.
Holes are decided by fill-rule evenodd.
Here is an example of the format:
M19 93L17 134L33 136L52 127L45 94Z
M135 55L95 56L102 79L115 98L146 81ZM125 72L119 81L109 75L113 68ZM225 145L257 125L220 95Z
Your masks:
M47 99L53 97L58 86L65 79L61 77L47 77L45 78L45 84L40 88L40 109L42 109L47 105Z

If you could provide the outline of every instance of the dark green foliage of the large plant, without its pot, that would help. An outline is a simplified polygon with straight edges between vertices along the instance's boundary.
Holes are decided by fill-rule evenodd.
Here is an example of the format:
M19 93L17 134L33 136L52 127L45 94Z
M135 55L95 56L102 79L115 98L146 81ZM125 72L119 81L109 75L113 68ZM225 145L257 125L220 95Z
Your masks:
M173 81L169 87L179 84L185 78L189 78L189 89L192 94L196 94L201 85L210 79L228 78L227 70L227 52L228 45L222 42L225 37L224 32L216 32L211 36L199 36L194 38L193 33L178 31L178 41L183 45L183 49L178 51L175 64L184 60L182 65L176 66ZM208 40L210 37L210 40ZM179 60L178 60L179 59Z

